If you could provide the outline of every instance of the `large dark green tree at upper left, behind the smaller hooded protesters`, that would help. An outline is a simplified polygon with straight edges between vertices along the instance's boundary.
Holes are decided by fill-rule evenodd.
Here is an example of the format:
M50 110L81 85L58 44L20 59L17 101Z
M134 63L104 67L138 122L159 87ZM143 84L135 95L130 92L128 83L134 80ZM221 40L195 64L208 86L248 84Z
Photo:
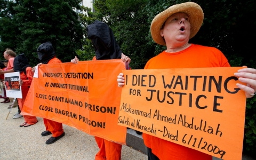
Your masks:
M37 47L49 41L61 61L74 58L75 50L82 47L83 38L81 22L73 11L73 8L79 9L78 0L20 0L13 3L15 13L11 19L19 29L13 37L20 42L15 49L17 53L25 53L31 65L36 65L39 62Z

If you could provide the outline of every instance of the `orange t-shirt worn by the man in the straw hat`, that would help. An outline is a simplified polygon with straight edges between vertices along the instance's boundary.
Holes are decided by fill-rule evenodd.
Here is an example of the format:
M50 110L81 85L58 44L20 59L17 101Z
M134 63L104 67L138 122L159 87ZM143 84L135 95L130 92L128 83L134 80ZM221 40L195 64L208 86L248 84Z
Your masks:
M203 68L203 67L230 67L227 58L221 51L214 47L191 44L187 49L167 53L162 52L151 58L145 69L167 69L167 68ZM166 141L152 135L143 133L143 141L152 153L159 159L179 160L212 160L211 155L200 151Z

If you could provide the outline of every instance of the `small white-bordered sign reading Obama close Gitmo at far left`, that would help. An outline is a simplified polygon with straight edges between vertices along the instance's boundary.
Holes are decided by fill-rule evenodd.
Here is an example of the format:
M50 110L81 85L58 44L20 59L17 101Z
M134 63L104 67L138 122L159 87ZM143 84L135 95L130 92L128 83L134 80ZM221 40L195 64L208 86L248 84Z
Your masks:
M22 98L21 86L19 84L19 81L20 81L19 71L13 72L13 73L5 73L4 81L5 81L6 97Z

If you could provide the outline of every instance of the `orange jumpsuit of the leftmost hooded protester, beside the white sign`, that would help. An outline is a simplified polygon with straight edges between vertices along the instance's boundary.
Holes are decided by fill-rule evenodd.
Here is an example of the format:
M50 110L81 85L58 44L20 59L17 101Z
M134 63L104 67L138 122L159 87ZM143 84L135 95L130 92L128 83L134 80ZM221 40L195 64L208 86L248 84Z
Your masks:
M26 68L26 75L24 74L24 72L22 71L22 73L20 73L20 79L23 80L23 84L21 86L21 92L22 92L22 98L17 98L18 103L19 103L19 107L20 110L22 110L23 108L23 104L26 100L28 91L29 91L29 86L31 85L33 76L34 76L34 72L32 71L31 67L27 67ZM25 122L27 122L28 124L35 124L37 123L37 118L36 116L27 116L27 115L23 115L23 118L25 120Z

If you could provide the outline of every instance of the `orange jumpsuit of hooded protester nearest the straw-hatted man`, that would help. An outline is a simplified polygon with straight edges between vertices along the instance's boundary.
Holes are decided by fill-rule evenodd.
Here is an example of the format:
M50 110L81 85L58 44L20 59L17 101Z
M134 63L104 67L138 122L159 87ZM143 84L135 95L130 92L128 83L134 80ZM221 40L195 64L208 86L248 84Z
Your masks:
M94 56L93 61L96 60ZM119 160L121 159L122 145L110 142L100 137L94 137L100 150L95 155L95 160Z

